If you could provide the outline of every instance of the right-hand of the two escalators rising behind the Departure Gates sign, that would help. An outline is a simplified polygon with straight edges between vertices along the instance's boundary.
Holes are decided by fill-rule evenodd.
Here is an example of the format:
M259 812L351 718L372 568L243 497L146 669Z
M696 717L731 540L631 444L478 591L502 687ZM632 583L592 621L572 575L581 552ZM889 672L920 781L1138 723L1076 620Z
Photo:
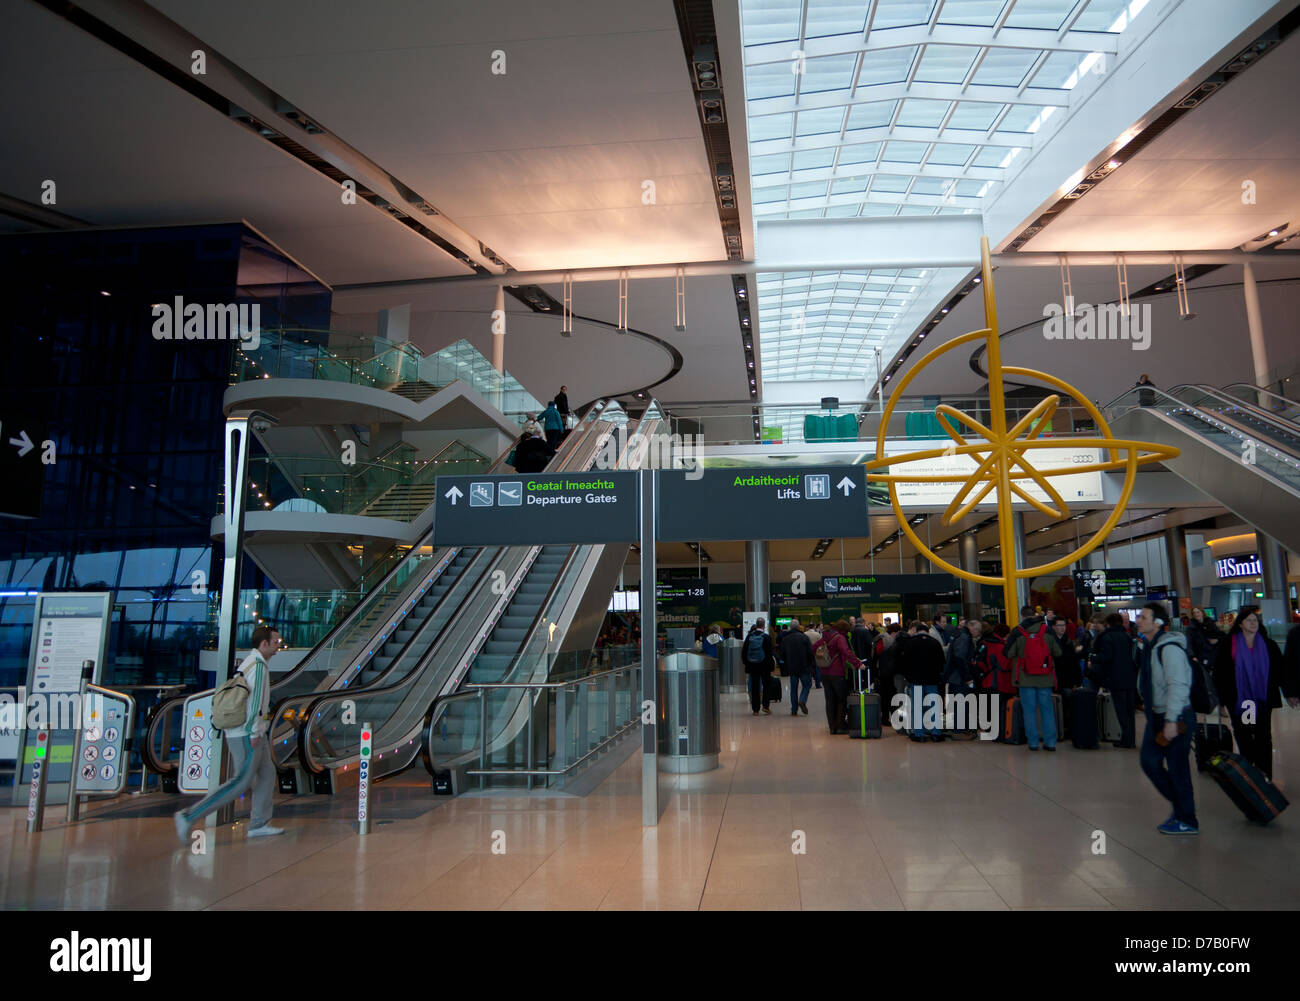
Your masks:
M646 439L660 426L658 406L651 403L629 441ZM612 426L588 442L586 463L577 468L594 464L611 433ZM628 468L629 462L625 446L618 465ZM514 746L538 696L526 685L586 667L627 552L625 543L486 547L480 559L494 554L491 573L484 575L412 671L390 684L286 706L299 720L300 767L313 775L352 767L359 754L356 724L369 723L370 775L391 777L420 757L430 707L439 705L446 706L439 712L439 755L474 754L485 737L493 745ZM497 693L490 707L476 702L471 711L467 701L450 698L471 682L517 688Z

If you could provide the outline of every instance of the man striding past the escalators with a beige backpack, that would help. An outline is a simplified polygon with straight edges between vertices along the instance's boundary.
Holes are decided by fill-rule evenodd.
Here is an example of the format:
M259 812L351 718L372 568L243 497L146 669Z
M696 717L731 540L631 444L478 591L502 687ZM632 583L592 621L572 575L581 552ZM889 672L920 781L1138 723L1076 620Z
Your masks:
M276 764L270 759L270 746L266 741L266 731L270 728L268 662L278 650L280 633L270 627L259 625L252 630L252 653L239 664L235 676L212 697L214 723L221 720L222 712L234 711L239 701L244 702L242 719L222 731L230 755L234 758L235 774L225 785L209 792L188 810L179 810L173 815L176 833L183 844L190 842L190 829L200 818L233 803L248 789L252 789L248 837L285 833L283 828L270 826Z

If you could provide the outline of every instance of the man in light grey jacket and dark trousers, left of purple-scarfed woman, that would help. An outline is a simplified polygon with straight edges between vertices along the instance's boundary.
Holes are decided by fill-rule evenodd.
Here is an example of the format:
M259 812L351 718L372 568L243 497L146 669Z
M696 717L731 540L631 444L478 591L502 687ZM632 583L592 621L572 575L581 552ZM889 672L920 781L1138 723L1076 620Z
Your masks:
M1138 689L1147 712L1141 738L1141 770L1169 800L1174 812L1156 829L1162 835L1197 835L1192 790L1192 663L1187 640L1167 630L1169 611L1148 602L1138 614Z

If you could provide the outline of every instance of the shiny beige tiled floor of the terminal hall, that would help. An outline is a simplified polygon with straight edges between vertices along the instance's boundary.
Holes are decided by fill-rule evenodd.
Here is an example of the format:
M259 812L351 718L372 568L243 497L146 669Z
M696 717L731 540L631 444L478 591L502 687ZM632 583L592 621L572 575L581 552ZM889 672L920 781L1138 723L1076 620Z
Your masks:
M640 755L584 798L433 800L378 786L355 802L282 800L283 837L221 829L177 845L174 797L118 801L62 827L0 819L0 906L74 909L1005 910L1300 906L1300 812L1242 819L1196 776L1201 835L1154 827L1165 803L1136 751L1030 753L982 741L850 741L788 705L723 697L722 767L663 776L641 826ZM1274 716L1277 779L1300 774L1300 712ZM390 816L385 820L385 807ZM1105 854L1095 854L1101 845ZM499 849L498 853L493 848ZM796 853L794 849L802 849Z

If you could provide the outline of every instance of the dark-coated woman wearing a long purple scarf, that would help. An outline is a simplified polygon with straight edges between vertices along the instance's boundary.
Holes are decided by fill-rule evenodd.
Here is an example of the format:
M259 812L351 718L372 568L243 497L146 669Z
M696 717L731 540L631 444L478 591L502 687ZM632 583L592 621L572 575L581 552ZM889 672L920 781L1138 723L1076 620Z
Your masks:
M1214 656L1214 688L1232 716L1232 733L1242 755L1269 779L1273 777L1273 710L1282 708L1282 696L1300 708L1300 677L1282 660L1282 651L1260 629L1260 611L1247 606L1236 614L1227 638Z

